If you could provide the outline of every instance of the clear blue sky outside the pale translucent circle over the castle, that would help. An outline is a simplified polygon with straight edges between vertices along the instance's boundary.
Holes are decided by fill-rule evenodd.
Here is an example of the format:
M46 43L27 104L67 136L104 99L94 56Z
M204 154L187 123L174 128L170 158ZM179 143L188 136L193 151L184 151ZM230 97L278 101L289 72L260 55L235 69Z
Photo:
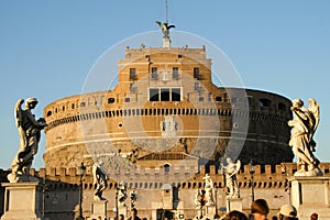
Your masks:
M315 98L321 121L316 155L330 161L330 1L168 0L169 22L216 44L246 88ZM156 31L164 0L0 1L0 168L19 147L13 107L37 97L34 113L81 92L98 57L123 38ZM43 166L45 136L34 162Z

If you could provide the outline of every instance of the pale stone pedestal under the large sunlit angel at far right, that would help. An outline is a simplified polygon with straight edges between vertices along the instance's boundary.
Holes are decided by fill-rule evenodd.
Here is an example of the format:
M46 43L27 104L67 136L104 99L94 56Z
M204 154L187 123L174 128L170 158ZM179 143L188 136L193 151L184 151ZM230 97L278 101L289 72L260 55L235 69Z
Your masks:
M290 199L297 208L299 220L309 220L316 212L319 220L330 219L329 180L324 176L295 176L292 183Z

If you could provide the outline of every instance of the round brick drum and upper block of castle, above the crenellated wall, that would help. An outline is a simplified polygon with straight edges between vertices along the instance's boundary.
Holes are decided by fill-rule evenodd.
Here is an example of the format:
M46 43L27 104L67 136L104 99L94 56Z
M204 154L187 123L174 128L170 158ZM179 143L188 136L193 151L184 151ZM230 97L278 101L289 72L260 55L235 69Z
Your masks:
M101 160L116 167L129 161L128 166L198 169L224 154L243 164L292 162L290 101L216 86L205 46L127 47L118 69L116 88L45 107L46 168Z

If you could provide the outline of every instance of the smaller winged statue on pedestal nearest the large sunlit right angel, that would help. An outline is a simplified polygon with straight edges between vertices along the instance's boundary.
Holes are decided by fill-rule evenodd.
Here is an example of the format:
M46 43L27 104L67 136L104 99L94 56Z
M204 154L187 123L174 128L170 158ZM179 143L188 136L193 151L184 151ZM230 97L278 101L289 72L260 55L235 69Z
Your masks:
M224 168L226 174L226 186L229 189L228 198L240 198L240 189L237 179L237 173L239 173L241 168L241 161L238 160L237 163L233 163L231 158L227 158L227 166L221 166Z

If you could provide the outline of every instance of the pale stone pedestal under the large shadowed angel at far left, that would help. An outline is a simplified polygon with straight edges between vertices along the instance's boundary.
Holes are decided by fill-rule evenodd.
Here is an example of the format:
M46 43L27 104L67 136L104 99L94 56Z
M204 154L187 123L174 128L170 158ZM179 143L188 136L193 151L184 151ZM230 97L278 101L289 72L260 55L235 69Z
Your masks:
M37 182L2 183L4 215L1 220L41 220L42 186Z

